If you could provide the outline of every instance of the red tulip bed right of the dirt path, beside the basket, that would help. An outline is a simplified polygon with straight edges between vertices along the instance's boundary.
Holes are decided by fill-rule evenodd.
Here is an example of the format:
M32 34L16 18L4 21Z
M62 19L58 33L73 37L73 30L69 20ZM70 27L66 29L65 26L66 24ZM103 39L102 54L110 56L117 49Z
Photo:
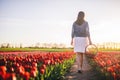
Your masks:
M100 80L120 80L120 51L98 52L87 54L90 64L99 72Z

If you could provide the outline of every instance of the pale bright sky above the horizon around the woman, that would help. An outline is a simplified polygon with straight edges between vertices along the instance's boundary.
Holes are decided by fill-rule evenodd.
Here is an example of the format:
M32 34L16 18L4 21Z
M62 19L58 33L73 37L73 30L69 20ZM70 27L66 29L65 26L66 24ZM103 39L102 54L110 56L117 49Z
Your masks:
M120 42L120 0L0 0L0 44L71 42L85 12L93 43Z

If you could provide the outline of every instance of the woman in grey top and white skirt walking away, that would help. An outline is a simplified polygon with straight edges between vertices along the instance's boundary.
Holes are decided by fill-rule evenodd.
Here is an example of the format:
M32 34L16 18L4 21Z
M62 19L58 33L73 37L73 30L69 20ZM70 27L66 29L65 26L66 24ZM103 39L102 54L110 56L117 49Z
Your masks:
M88 22L84 20L84 12L78 13L77 20L72 26L72 40L71 45L74 45L74 52L76 53L76 61L78 65L78 73L82 73L83 66L83 54L85 53L85 47L92 44Z

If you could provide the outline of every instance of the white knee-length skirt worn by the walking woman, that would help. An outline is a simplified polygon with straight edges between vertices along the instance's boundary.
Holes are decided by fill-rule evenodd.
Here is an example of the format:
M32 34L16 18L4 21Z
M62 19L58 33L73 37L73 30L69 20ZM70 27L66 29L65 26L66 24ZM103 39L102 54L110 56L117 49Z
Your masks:
M88 45L87 37L74 37L74 52L85 53L85 47Z

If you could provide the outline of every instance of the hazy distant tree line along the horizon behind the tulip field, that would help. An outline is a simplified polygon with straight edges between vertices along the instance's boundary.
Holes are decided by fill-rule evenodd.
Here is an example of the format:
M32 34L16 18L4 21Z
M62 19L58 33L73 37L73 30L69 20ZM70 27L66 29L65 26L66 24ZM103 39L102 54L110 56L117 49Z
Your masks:
M120 43L105 42L96 44L99 49L120 49ZM68 48L65 44L60 43L35 43L31 46L24 46L22 43L13 45L10 43L0 44L0 48ZM73 47L69 47L73 48Z

